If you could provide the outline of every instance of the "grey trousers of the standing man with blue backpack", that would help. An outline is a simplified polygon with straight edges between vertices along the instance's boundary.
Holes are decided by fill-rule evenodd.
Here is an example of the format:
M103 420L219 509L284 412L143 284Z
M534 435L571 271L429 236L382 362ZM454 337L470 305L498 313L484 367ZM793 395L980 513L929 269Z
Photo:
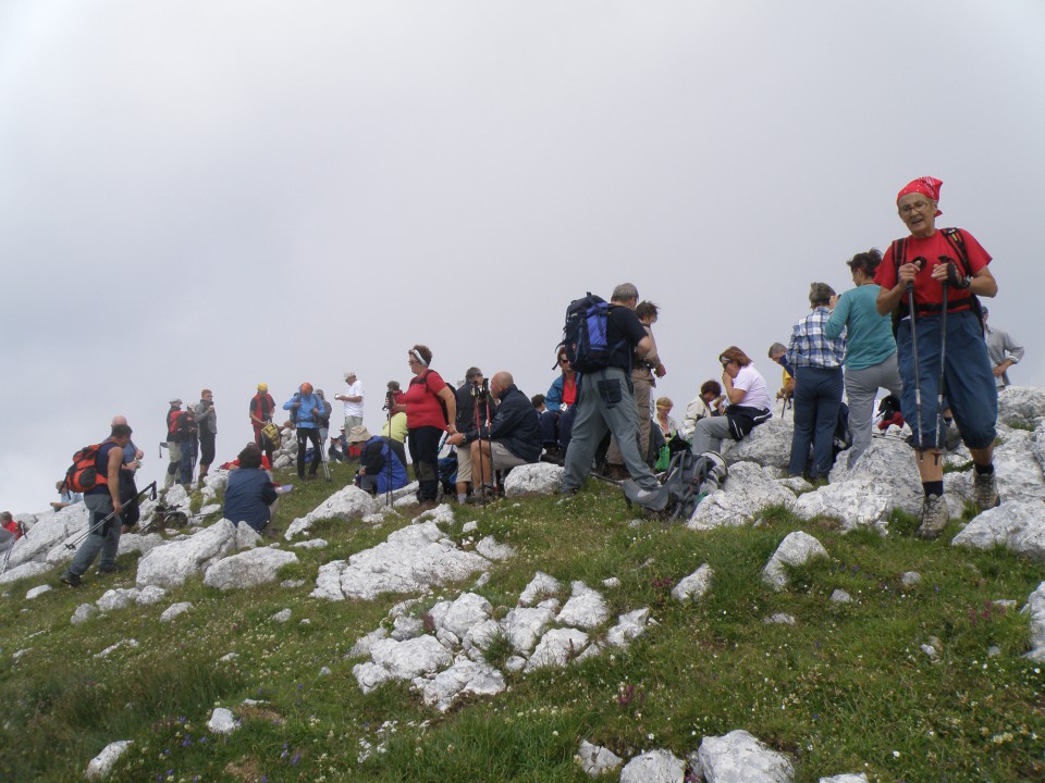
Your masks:
M599 393L600 382L611 386L616 382L620 401L612 408ZM643 489L656 489L660 483L650 471L650 467L639 455L638 438L639 413L635 400L628 394L628 381L624 370L607 368L585 375L580 384L575 407L574 432L566 449L566 471L563 473L563 490L577 489L591 471L591 461L595 449L611 432L620 447L624 464L628 473Z

